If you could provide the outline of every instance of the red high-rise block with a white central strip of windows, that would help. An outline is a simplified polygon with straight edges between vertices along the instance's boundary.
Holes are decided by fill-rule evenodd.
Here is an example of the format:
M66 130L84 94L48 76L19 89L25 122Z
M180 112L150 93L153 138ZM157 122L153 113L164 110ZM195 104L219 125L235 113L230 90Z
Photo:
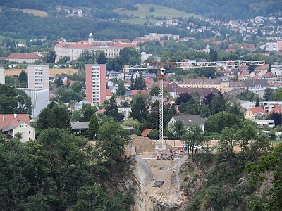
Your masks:
M106 65L85 65L86 100L102 105L106 100Z

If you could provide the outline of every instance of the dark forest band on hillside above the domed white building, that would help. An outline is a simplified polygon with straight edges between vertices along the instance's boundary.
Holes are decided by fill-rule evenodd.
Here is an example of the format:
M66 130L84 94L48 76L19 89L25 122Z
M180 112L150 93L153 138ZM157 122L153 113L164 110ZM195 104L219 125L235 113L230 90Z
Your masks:
M149 34L149 32L180 34L185 37L184 30L170 27L147 27L145 25L130 25L116 21L97 21L80 18L49 17L40 18L20 11L3 9L0 12L1 35L18 39L35 39L47 37L69 41L85 39L90 32L95 39L111 40L113 38L134 39L136 36ZM31 24L32 23L32 24Z

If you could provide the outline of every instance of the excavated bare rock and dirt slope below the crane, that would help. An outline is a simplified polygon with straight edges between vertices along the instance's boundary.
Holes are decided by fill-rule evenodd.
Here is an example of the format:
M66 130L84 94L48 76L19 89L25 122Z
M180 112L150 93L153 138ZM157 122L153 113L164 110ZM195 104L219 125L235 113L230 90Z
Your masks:
M111 191L125 193L134 188L134 205L130 210L185 210L188 198L183 194L181 169L187 158L180 160L142 160L136 157L123 174L106 182ZM164 181L161 187L153 187L154 181Z

